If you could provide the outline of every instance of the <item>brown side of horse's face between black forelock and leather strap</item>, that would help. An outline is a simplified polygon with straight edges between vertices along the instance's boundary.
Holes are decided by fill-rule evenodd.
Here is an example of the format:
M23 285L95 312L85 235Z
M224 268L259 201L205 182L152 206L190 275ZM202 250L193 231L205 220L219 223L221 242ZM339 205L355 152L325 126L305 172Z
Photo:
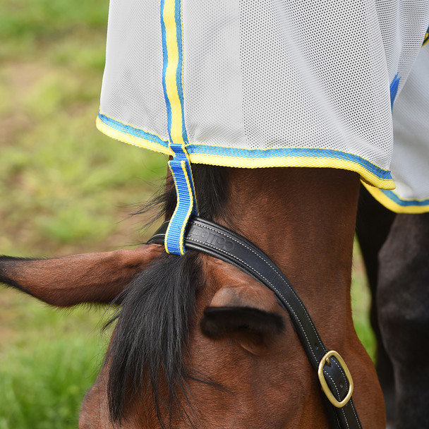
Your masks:
M206 293L197 301L186 360L200 380L189 382L193 423L328 428L320 388L272 291L226 262L202 258Z

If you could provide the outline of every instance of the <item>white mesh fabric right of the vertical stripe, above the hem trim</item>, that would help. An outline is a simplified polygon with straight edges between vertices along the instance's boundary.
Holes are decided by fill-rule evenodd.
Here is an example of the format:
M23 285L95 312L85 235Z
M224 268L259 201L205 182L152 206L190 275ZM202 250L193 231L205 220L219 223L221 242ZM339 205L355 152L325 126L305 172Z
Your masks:
M239 11L234 3L184 3L190 140L321 147L388 169L389 83L399 72L406 78L427 28L428 2L411 11L402 5L410 1L390 8L392 2L242 0Z

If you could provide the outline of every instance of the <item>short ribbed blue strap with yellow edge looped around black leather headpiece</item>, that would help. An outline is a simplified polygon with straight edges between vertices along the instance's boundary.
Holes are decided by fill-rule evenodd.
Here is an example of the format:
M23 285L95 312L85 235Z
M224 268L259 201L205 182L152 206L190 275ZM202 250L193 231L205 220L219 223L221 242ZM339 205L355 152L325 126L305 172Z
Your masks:
M169 167L176 186L177 205L170 219L165 235L164 246L167 253L174 255L185 254L185 230L191 215L198 216L197 200L193 186L191 163L183 145L170 143L174 158L169 161Z

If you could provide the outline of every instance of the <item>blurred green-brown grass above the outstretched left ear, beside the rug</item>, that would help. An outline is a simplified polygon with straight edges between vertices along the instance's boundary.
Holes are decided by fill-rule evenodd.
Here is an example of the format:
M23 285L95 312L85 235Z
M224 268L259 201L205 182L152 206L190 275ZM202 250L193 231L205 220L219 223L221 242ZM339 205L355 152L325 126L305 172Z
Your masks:
M121 221L159 186L166 166L162 155L95 129L106 27L104 0L0 4L3 253L136 241Z

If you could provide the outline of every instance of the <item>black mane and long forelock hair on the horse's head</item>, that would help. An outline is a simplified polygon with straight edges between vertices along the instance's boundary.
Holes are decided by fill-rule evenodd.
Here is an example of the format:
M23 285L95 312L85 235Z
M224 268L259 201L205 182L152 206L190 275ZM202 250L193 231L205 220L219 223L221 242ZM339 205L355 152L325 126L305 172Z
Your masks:
M227 169L194 165L193 178L200 217L212 220L222 216ZM171 183L140 212L156 205L161 207L161 216L171 216L176 206ZM108 395L112 422L121 421L127 400L136 396L155 401L163 428L161 409L171 413L176 406L181 410L178 392L186 397L186 379L191 377L183 367L182 356L195 313L195 296L204 284L199 261L193 251L184 256L164 254L119 296L121 308L111 320L117 318L118 323L106 358L111 365Z

